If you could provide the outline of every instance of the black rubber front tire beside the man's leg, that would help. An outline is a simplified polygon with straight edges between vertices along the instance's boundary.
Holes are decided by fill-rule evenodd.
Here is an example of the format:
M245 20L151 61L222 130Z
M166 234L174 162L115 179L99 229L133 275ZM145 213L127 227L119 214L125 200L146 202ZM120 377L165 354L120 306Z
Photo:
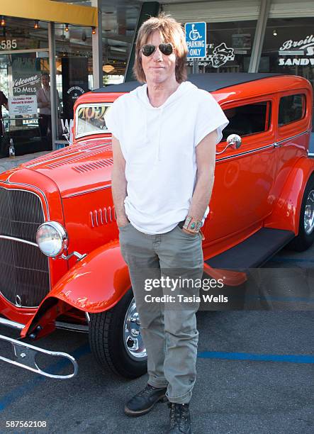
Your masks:
M133 304L133 291L129 291L109 311L93 313L89 322L89 345L99 365L108 372L125 378L137 378L147 372L147 358L135 360L125 348L124 321Z

